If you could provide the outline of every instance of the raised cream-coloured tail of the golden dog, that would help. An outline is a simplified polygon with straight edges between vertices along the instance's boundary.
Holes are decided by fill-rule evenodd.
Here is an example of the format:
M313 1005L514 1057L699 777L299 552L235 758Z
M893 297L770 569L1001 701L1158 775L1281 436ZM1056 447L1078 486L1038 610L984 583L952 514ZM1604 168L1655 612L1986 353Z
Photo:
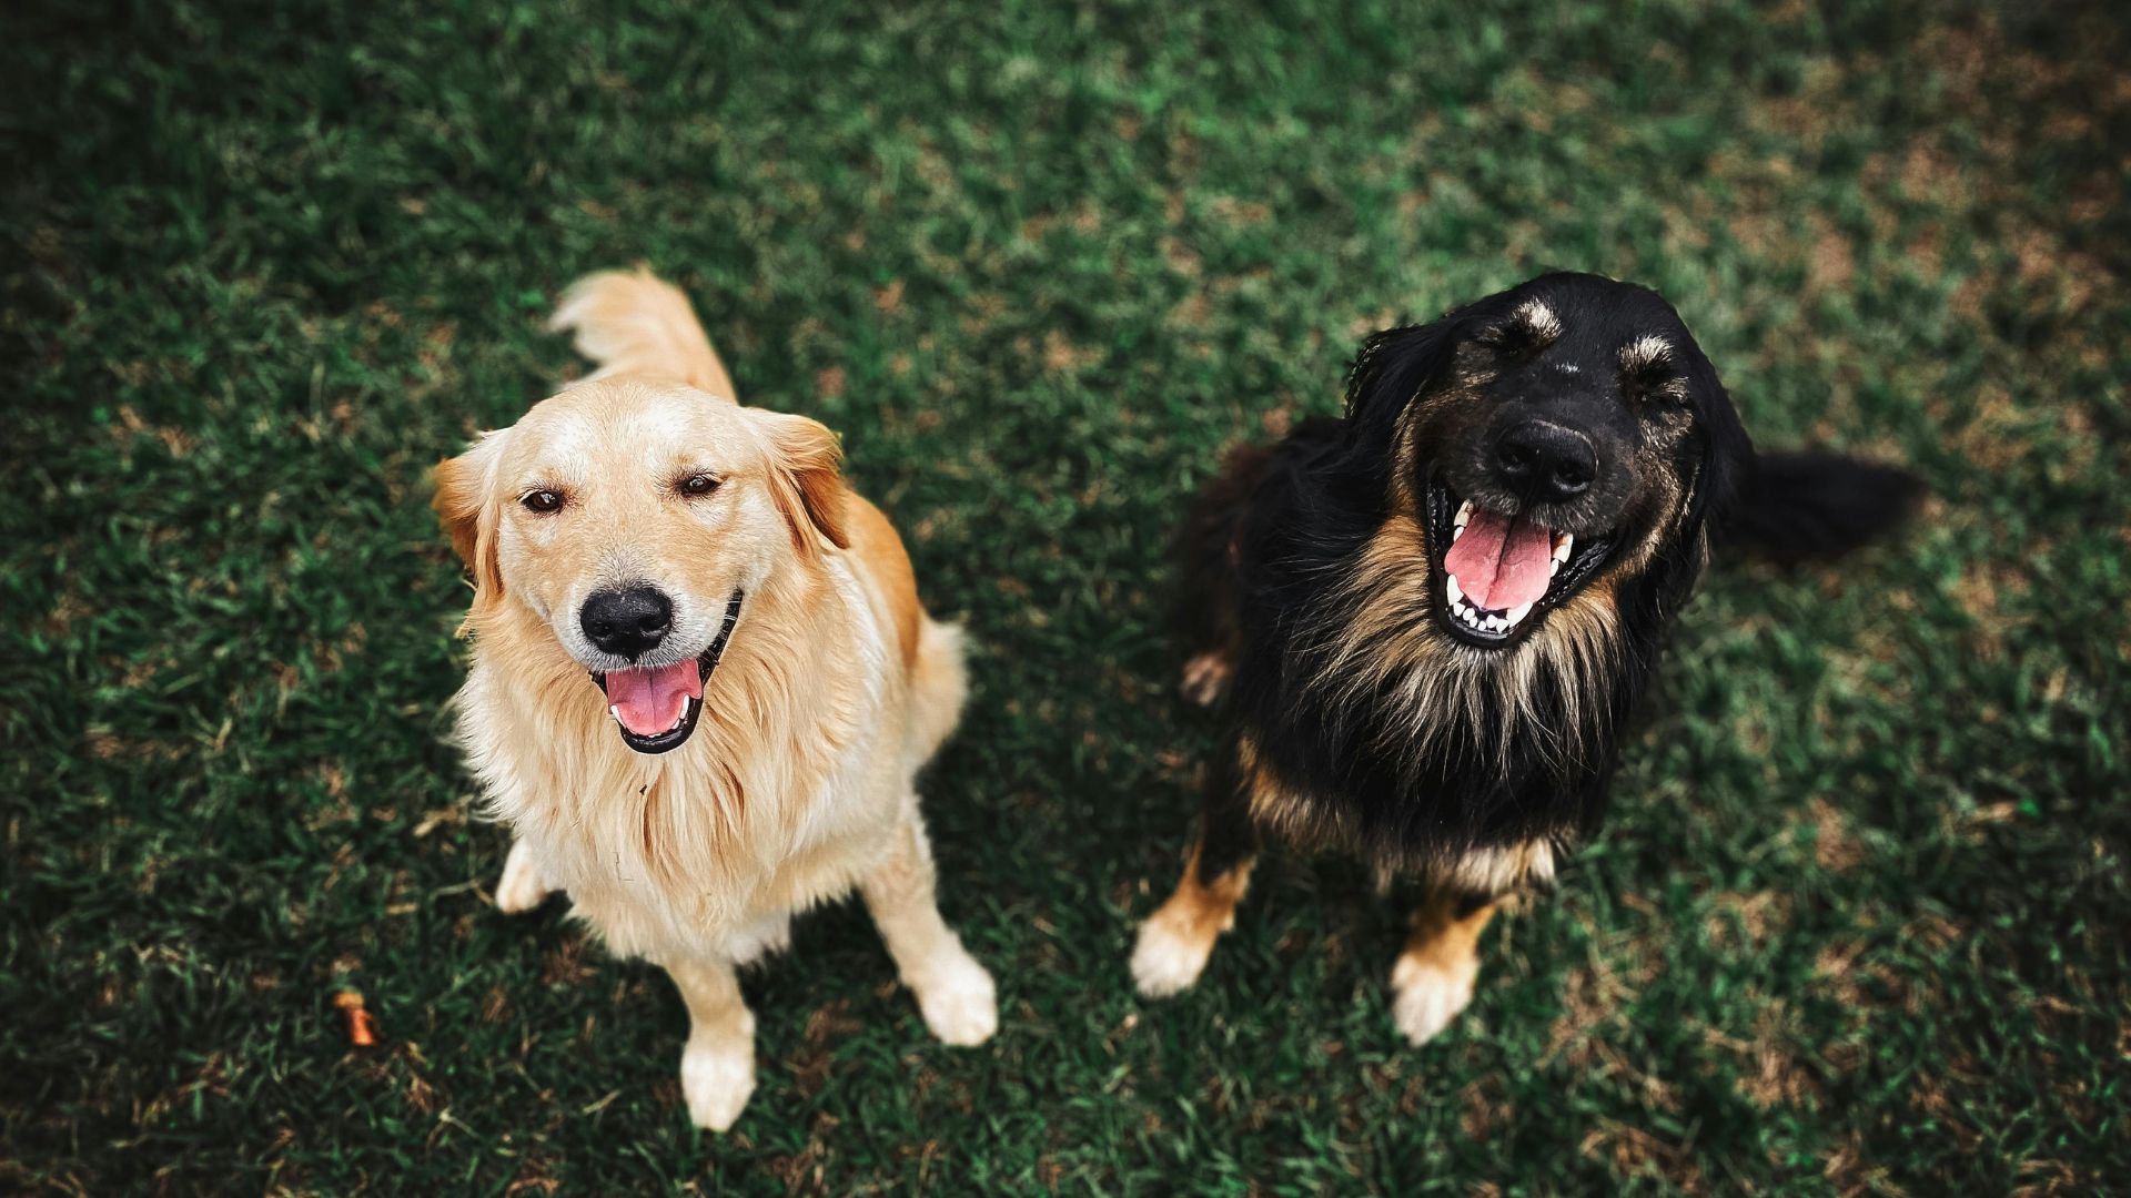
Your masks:
M733 375L710 347L688 296L650 273L601 271L563 292L548 328L575 330L578 352L605 375L665 375L739 403Z

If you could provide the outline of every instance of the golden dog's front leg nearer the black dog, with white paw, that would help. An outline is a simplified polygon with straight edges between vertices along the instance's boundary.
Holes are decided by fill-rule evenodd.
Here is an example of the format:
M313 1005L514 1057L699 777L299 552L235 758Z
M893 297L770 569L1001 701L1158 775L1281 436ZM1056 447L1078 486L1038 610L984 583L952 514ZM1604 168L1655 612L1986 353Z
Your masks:
M916 812L895 831L889 857L863 883L865 908L918 995L925 1025L946 1045L982 1045L999 1027L999 1002L991 974L961 946L961 938L940 919L933 895L931 846Z

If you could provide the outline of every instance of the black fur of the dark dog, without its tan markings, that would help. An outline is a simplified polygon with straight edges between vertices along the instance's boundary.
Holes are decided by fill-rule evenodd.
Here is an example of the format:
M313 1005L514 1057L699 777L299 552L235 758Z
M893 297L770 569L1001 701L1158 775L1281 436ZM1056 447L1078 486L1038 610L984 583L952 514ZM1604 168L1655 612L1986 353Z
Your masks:
M1551 365L1545 375L1522 365L1539 352L1528 345L1532 339L1502 333L1504 322L1530 311L1532 298L1564 330L1560 345L1545 350L1547 360L1571 362ZM1620 375L1626 382L1592 377L1598 367L1590 362L1605 362L1603 354L1645 335L1673 347L1662 403L1677 409L1643 407L1645 399L1628 394L1643 384L1626 371ZM1524 390L1504 390L1517 386ZM1562 399L1534 394L1556 386ZM1607 533L1590 535L1596 544L1611 535L1615 554L1656 537L1647 563L1632 573L1607 578L1611 563L1590 567L1611 590L1617 650L1598 678L1539 669L1528 689L1515 689L1507 684L1507 665L1528 646L1470 648L1445 640L1441 669L1500 676L1470 691L1481 697L1477 712L1443 712L1460 727L1432 727L1441 735L1417 738L1404 678L1392 674L1360 689L1328 678L1340 669L1334 663L1340 625L1357 627L1353 620L1362 616L1351 584L1387 520L1400 514L1430 520L1426 497L1445 495L1445 480L1468 469L1470 446L1492 418L1487 405L1556 411L1547 407L1556 403L1577 414L1577 428L1590 431L1617 484L1603 512L1560 505L1545 524L1573 529L1571 520L1581 520L1598 529L1611 520ZM1415 428L1462 433L1434 441L1409 433L1406 454L1409 420L1419 422ZM1664 420L1666 450L1652 465ZM1649 477L1652 471L1671 477ZM1441 870L1477 848L1566 844L1596 827L1628 714L1649 684L1666 627L1688 601L1718 527L1762 548L1839 552L1884 531L1914 495L1914 480L1888 467L1833 456L1756 458L1715 369L1671 305L1656 292L1594 275L1543 275L1432 324L1370 337L1349 377L1345 418L1308 420L1279 446L1232 454L1178 535L1181 627L1191 654L1213 652L1232 663L1223 701L1232 740L1223 757L1232 759L1236 744L1249 740L1283 791L1302 795L1323 827L1345 829L1323 840L1379 868ZM1441 541L1449 541L1449 518L1438 518ZM1430 541L1436 539L1430 531ZM1411 569L1438 576L1443 552L1443 544L1428 550L1413 544ZM1562 584L1568 586L1566 571ZM1432 601L1413 603L1406 622L1381 629L1370 652L1411 644L1400 637L1421 625L1428 625L1424 635L1449 637L1434 627L1449 622L1436 610L1449 599L1441 582L1430 586ZM1575 599L1571 590L1560 603ZM1551 588L1547 603L1556 603ZM1549 618L1564 614L1534 614L1519 631L1536 635L1530 629ZM1536 718L1513 721L1511 708ZM1507 742L1504 727L1517 729ZM1247 821L1238 787L1247 789L1232 761L1208 772L1208 842L1249 844L1238 831Z

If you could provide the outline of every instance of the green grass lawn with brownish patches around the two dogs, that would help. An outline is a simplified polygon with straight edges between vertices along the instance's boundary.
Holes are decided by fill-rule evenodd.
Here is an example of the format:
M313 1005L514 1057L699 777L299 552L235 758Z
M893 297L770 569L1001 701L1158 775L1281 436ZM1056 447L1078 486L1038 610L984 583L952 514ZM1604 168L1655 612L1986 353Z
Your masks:
M2131 38L1992 11L11 4L0 1189L2122 1185ZM933 1045L831 908L748 981L722 1138L661 974L488 906L441 742L424 469L635 260L842 431L982 646L927 806L997 1040ZM1658 286L1762 443L1935 503L1713 573L1441 1042L1334 859L1142 1004L1210 735L1178 503L1362 333L1543 266Z

